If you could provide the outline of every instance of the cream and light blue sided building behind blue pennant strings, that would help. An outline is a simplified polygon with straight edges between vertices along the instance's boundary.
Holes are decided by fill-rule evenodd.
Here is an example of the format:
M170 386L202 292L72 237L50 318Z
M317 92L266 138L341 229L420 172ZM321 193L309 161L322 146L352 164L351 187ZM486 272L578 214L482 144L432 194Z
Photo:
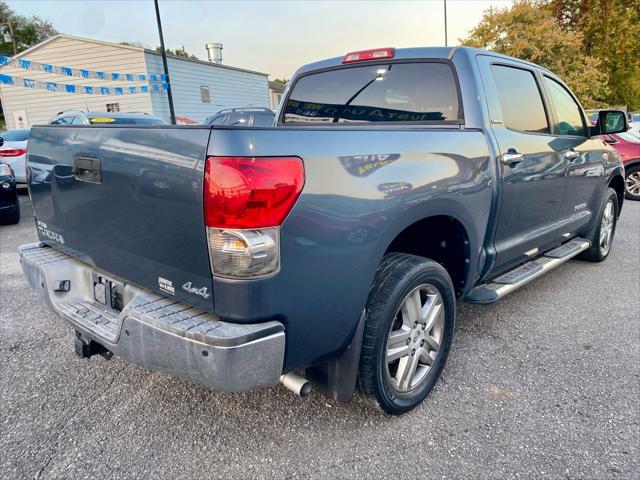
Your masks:
M69 35L56 35L20 53L16 59L74 69L121 74L160 74L162 56L144 48L117 45ZM169 78L176 116L197 122L223 108L269 107L270 93L266 73L183 57L168 56ZM0 68L1 74L76 86L123 87L148 85L140 81L112 81L80 76L62 76L40 70L25 70L12 64ZM147 77L148 78L148 77ZM7 128L21 121L28 125L47 123L64 110L148 112L166 121L169 117L167 92L122 95L88 95L45 89L24 88L0 83L0 99Z

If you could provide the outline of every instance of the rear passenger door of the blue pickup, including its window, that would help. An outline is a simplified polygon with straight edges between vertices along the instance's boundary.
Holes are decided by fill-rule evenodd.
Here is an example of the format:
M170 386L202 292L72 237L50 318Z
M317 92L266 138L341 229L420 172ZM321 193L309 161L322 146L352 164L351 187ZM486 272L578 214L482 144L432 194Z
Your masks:
M536 71L501 58L479 56L478 61L500 150L502 193L492 272L498 274L557 241L565 159Z

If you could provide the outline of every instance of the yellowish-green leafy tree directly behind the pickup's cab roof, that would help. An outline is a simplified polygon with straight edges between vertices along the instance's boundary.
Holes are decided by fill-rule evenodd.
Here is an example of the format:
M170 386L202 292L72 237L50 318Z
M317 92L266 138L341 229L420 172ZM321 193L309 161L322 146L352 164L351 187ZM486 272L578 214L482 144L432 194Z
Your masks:
M587 55L580 30L563 28L548 2L516 1L487 10L463 45L537 63L562 78L586 108L605 106L611 96L608 70Z

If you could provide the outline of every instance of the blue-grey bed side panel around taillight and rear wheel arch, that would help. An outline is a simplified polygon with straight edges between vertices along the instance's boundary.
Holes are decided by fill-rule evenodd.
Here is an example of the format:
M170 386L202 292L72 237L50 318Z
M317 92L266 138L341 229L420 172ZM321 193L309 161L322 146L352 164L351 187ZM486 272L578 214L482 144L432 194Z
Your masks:
M216 128L208 155L303 159L303 192L281 228L280 272L265 280L214 279L222 317L285 323L288 367L346 347L383 254L416 221L459 220L473 249L469 278L477 275L492 199L481 131Z

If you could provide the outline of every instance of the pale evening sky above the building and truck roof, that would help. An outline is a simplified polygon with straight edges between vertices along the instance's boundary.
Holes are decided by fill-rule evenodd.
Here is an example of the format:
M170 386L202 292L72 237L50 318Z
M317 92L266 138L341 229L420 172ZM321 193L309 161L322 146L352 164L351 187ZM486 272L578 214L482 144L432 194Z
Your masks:
M449 45L465 37L491 7L511 0L448 0ZM159 45L152 0L8 0L69 35ZM160 0L167 48L202 60L205 44L223 44L223 63L270 78L291 78L305 63L377 47L444 45L443 0L209 1Z

